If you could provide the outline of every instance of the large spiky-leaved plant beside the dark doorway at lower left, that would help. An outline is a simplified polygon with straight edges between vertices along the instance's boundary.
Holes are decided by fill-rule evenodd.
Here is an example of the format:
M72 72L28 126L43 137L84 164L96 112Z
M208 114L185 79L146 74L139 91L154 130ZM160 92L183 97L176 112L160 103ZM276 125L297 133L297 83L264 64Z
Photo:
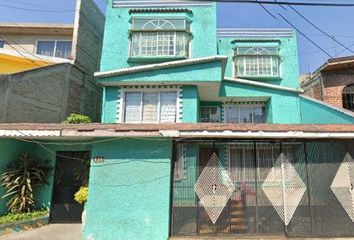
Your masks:
M25 213L35 206L34 192L44 184L53 168L49 161L41 161L24 154L8 165L1 175L1 186L6 190L1 198L9 198L7 208L11 213Z

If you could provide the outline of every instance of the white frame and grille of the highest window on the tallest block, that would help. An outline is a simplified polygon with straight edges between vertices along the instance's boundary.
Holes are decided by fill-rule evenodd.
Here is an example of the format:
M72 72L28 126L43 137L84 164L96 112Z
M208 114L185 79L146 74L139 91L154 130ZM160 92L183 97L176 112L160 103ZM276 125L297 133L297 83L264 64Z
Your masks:
M156 20L156 19L163 19L163 20L168 20L168 19L173 19L173 18L161 18L161 17L156 17L156 18L137 18L137 19L150 19L150 20ZM132 49L133 49L133 37L132 37L132 33L130 33L130 35L129 35L129 47L128 47L128 56L129 56L129 58L179 58L179 57L181 57L181 58L183 58L183 57L185 57L185 58L191 58L191 56L192 56L192 39L193 39L193 37L192 37L192 31L193 31L193 29L192 29L192 22L188 19L188 18L183 18L183 17L181 17L181 18L175 18L175 19L184 19L185 20L185 28L186 28L186 22L189 22L189 30L185 30L185 31L183 31L183 30L179 30L179 31L181 31L181 32L185 32L185 33L189 33L189 41L188 41L188 52L187 52L187 55L185 55L185 56L176 56L176 46L177 46L177 44L176 44L176 41L177 41L177 32L179 32L179 31L174 31L174 30L166 30L165 32L174 32L174 55L156 55L156 56L148 56L148 55L132 55ZM134 30L134 29L133 29ZM135 32L137 33L137 32L139 32L139 30L135 30ZM151 32L153 32L153 30L151 31ZM156 31L157 32L157 31ZM164 31L162 31L162 32L164 32ZM141 37L141 33L142 32L140 32L140 37ZM156 41L157 43L158 43L158 40ZM141 45L139 45L139 49L140 49L140 47L141 47ZM157 51L158 51L158 46L156 47L156 49L157 49ZM139 50L139 52L140 52L140 50Z

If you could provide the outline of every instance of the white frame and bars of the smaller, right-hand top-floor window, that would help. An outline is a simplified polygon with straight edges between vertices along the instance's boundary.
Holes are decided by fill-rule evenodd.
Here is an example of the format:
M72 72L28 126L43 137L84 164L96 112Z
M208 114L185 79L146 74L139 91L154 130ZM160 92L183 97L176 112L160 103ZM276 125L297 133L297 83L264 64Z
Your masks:
M262 54L238 54L238 48L277 48L277 51L278 51L278 54L270 54L270 55L262 55ZM271 75L260 75L259 74L259 59L257 60L257 71L258 71L258 74L257 75L248 75L246 74L246 58L245 57L262 57L262 56L270 56L270 57L277 57L277 68L278 68L278 74L277 75L274 75L274 70L273 70L273 60L271 61ZM240 74L239 71L238 71L238 61L240 58L242 57L243 58L243 66L244 66L244 70L243 70L243 73ZM236 48L234 48L234 57L233 57L233 68L232 68L232 74L234 77L281 77L281 58L280 58L280 49L279 49L279 46L238 46Z

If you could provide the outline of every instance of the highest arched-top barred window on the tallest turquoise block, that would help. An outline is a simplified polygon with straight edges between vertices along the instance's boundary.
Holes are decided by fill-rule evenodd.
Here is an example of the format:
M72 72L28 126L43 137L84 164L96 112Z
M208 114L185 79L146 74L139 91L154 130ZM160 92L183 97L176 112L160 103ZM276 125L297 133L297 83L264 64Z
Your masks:
M133 19L131 57L188 57L190 23L186 19Z

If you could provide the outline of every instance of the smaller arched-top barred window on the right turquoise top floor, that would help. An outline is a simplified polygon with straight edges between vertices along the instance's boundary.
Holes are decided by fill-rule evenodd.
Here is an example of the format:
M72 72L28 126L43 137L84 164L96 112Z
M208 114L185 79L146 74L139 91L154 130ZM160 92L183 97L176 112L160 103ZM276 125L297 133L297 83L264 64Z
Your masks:
M236 76L279 76L277 47L239 47L235 55Z

